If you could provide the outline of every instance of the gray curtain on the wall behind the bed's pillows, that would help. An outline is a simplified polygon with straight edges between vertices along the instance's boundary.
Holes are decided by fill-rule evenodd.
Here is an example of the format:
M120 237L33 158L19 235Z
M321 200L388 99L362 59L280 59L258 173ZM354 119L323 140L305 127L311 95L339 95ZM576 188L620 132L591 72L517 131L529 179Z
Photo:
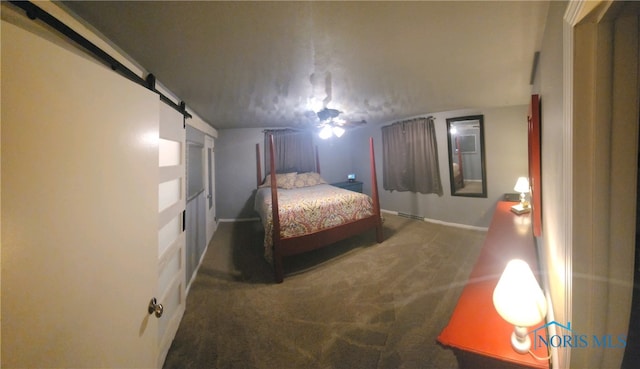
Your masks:
M313 135L310 131L274 129L264 131L265 175L271 173L269 135L273 135L276 173L313 172L316 170Z

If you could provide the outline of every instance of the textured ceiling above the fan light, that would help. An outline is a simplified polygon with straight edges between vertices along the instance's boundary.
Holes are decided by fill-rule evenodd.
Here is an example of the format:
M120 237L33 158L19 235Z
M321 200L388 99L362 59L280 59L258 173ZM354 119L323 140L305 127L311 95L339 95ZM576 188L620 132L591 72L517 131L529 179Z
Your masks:
M526 104L547 2L65 2L216 128Z

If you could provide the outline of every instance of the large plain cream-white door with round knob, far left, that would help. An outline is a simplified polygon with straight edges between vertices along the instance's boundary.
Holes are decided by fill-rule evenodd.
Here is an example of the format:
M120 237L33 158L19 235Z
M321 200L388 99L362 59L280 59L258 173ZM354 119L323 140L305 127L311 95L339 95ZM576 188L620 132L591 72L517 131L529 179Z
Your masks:
M1 33L2 365L155 367L158 96Z

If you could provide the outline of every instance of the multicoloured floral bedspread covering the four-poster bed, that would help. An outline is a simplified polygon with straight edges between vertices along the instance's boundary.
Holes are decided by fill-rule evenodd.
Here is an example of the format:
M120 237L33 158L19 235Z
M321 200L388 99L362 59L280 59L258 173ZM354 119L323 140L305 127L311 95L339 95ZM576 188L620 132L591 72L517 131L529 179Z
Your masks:
M271 188L259 188L254 209L264 226L264 256L273 259L273 221ZM320 184L310 187L278 188L280 237L289 238L314 233L373 215L371 197Z

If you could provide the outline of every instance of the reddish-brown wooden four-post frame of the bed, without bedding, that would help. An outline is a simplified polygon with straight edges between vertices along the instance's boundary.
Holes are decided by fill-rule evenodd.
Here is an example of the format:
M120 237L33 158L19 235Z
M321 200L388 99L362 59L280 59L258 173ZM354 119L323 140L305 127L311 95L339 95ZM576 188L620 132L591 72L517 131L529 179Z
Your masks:
M380 200L378 198L378 181L376 178L376 164L373 151L373 138L369 138L369 155L371 164L371 188L373 200L373 215L353 222L345 223L332 228L323 229L318 232L305 234L302 236L282 238L280 237L280 217L278 210L278 188L276 176L271 176L271 210L273 219L273 267L275 280L281 283L284 279L283 258L315 250L323 246L330 245L345 238L360 234L369 229L375 228L376 241L383 241L382 218L380 216ZM262 171L260 169L260 144L256 144L257 159L257 180L258 186L262 184ZM277 173L275 168L275 152L273 136L269 137L269 162L271 173ZM318 148L316 147L316 171L320 173L320 162L318 160Z

